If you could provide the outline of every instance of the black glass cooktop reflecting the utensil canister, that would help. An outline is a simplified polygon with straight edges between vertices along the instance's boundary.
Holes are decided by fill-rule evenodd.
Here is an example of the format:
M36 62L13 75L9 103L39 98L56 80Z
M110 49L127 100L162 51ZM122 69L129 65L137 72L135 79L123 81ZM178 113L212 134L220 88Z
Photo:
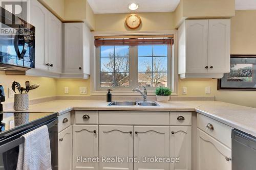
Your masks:
M57 112L0 112L0 139L8 133L31 128L55 117Z

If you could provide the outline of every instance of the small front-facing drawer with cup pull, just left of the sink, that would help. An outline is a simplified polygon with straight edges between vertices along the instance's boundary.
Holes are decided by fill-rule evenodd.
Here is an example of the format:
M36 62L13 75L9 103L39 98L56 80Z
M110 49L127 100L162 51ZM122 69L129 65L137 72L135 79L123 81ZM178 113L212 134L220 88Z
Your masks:
M75 111L76 124L98 124L98 111Z

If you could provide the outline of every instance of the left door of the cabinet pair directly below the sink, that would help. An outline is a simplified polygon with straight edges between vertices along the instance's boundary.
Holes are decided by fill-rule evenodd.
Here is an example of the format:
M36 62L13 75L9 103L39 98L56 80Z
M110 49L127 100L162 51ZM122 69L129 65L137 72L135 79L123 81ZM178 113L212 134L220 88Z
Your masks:
M103 158L119 157L121 162L106 162ZM99 126L99 169L132 170L133 126Z

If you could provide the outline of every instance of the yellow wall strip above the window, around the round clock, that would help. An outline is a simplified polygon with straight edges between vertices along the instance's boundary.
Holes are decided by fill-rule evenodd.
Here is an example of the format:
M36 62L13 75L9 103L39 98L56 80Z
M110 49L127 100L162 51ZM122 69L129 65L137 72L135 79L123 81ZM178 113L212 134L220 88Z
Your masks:
M127 31L128 14L96 14L95 31ZM136 31L173 30L173 12L139 13L141 25Z

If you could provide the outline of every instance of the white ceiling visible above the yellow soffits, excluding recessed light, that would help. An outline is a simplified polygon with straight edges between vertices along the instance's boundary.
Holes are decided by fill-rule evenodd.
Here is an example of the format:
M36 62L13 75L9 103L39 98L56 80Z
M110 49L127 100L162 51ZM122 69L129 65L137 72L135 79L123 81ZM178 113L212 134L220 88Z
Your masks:
M131 12L172 12L180 0L87 0L96 14L131 13ZM136 3L139 8L132 11L128 8ZM236 10L256 9L256 0L236 0Z

